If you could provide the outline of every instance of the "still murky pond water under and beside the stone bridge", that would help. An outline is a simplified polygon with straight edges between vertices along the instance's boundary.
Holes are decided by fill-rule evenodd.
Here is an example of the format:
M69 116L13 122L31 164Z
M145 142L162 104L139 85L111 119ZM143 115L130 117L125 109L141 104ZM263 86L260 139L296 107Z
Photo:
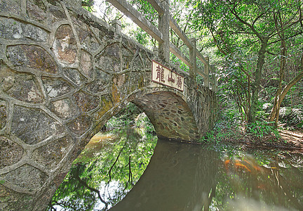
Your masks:
M97 134L48 210L303 210L303 155Z

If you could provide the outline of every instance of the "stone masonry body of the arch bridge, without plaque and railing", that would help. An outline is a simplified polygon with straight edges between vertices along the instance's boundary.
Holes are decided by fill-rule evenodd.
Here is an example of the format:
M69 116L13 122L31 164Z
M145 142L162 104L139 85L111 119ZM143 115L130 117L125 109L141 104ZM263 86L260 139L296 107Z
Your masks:
M183 91L153 82L152 60L184 77ZM0 210L45 209L72 161L128 102L171 139L194 141L216 117L214 91L118 27L62 1L1 0Z

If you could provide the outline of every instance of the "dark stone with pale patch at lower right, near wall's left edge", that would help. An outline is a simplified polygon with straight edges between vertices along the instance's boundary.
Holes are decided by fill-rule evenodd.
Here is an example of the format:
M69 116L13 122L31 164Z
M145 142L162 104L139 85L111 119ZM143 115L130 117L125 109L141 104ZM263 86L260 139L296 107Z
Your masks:
M13 86L6 92L19 101L25 101L27 103L41 103L43 101L43 95L41 94L39 87L36 85L37 82L34 75L15 74L9 81L6 80L4 82L8 84L13 82Z

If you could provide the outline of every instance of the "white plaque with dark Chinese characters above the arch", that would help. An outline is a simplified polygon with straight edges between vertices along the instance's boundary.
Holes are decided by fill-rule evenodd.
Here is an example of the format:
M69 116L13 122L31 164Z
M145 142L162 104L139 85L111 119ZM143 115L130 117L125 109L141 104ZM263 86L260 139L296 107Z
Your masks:
M152 81L180 91L184 90L184 77L152 60Z

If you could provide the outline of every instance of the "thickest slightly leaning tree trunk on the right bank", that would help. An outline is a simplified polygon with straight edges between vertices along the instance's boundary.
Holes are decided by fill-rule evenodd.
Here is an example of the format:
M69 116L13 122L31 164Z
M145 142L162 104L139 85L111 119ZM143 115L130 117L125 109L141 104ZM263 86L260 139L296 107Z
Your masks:
M255 122L255 115L257 113L258 106L258 94L260 91L261 77L262 77L262 68L265 63L265 52L267 49L267 38L261 40L261 48L258 52L257 68L255 71L255 82L252 84L252 98L251 106L248 112L248 123Z

